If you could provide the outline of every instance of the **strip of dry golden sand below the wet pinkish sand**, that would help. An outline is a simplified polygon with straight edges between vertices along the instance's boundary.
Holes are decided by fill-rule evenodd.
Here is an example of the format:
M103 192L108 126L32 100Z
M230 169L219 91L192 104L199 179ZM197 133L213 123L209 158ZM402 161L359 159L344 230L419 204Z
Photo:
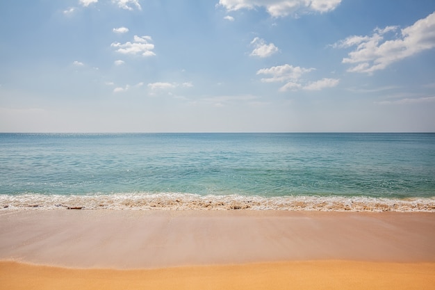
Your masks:
M0 262L1 289L435 289L435 263L288 261L149 270Z

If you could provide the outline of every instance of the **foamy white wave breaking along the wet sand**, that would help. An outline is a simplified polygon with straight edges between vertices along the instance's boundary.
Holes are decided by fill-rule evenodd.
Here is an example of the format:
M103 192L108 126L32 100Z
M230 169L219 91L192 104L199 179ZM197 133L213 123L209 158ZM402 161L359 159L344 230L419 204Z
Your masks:
M92 195L0 195L0 209L133 210L282 210L282 211L425 211L435 212L435 198L338 196L195 195L117 193Z

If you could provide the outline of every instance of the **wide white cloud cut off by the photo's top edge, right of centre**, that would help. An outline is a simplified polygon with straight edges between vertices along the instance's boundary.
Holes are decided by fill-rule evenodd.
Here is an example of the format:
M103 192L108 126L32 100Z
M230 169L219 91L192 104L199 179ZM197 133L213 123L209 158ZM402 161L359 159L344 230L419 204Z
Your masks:
M334 10L341 0L220 0L219 5L229 11L263 7L272 17L284 17L293 13Z

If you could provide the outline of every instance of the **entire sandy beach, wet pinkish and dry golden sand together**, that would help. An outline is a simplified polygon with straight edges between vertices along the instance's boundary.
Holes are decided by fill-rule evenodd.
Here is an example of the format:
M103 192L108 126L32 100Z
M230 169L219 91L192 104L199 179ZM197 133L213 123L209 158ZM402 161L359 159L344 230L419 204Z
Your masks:
M3 210L0 288L435 289L434 241L434 213Z

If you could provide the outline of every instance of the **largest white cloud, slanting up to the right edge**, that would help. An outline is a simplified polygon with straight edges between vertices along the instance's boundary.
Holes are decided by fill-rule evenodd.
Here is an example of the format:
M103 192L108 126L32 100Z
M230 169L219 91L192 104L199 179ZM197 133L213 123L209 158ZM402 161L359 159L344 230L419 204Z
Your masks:
M354 64L349 72L384 70L391 63L435 47L435 13L401 30L397 26L386 26L375 29L370 36L350 36L332 47L356 47L343 58L343 63Z

